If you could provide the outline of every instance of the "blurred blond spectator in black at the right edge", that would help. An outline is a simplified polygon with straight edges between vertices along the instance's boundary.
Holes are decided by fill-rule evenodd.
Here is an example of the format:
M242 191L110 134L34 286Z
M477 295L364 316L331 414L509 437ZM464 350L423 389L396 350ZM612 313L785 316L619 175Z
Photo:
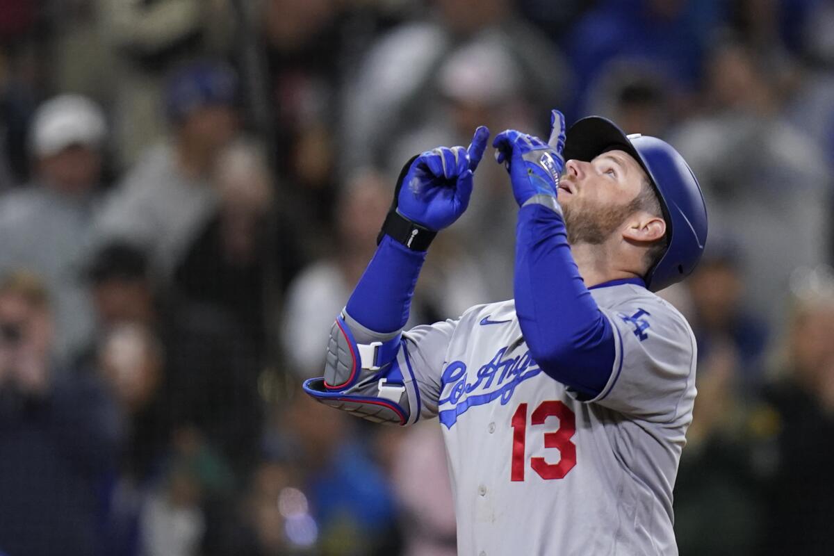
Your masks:
M791 285L781 377L768 392L778 458L761 554L821 554L834 543L834 278L806 269Z

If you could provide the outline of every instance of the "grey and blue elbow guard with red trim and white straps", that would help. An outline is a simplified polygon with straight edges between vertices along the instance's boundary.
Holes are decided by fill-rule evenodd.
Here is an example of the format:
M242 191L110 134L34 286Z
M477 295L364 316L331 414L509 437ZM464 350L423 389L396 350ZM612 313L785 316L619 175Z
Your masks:
M351 326L348 325L351 321ZM357 343L351 328L374 338ZM374 423L412 424L420 418L420 400L401 333L379 334L342 313L330 328L324 377L304 382L319 402Z

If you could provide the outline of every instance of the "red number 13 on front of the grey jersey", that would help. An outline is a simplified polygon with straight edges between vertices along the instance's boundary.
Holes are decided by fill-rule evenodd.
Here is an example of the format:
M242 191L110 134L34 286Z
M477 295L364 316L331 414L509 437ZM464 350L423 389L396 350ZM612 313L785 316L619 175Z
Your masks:
M545 448L557 448L561 457L559 463L547 463L545 458L530 458L530 467L541 478L564 478L576 464L576 444L570 442L576 432L574 413L564 403L549 400L539 404L530 416L531 425L544 424L550 417L559 418L559 428L545 433ZM527 404L522 403L513 413L510 423L513 428L513 457L510 480L523 481L525 468L525 443L527 433Z

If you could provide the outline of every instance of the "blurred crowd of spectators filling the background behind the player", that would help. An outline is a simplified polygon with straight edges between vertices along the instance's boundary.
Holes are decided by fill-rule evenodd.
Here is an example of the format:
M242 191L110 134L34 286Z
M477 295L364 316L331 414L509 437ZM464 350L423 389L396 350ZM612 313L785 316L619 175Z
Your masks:
M700 179L681 554L834 545L831 0L0 0L0 554L445 556L437 423L299 394L400 166L597 113ZM511 296L482 164L412 324Z

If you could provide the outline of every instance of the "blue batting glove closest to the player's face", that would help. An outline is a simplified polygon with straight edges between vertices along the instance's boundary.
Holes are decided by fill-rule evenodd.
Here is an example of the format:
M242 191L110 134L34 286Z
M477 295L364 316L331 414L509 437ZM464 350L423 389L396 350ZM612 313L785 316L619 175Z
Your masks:
M515 202L519 206L535 195L556 197L559 176L565 168L565 117L550 112L550 139L547 143L527 133L508 129L495 136L495 160L510 173Z

